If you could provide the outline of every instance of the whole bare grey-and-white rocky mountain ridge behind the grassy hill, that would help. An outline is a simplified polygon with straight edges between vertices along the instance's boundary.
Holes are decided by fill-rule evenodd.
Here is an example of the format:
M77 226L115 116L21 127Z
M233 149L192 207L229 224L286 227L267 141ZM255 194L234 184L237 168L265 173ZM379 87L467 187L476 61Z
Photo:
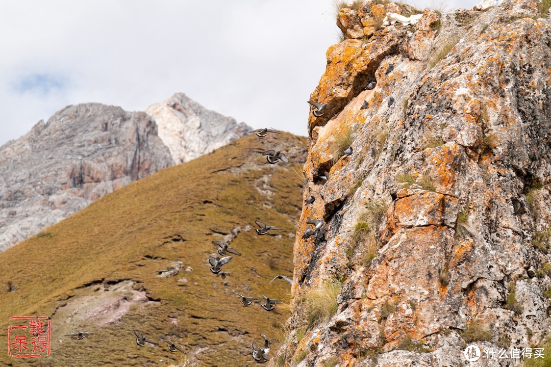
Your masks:
M148 111L155 119L100 103L68 106L1 146L0 251L102 195L250 130L183 94Z

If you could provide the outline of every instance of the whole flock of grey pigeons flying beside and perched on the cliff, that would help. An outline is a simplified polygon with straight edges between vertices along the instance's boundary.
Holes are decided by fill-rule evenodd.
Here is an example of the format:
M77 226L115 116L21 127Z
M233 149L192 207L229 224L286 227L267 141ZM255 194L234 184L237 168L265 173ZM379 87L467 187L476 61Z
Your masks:
M385 74L388 74L388 73L392 72L393 69L394 69L394 65L389 64L387 69L386 69ZM376 84L377 84L376 81L371 81L365 87L365 90L374 89ZM395 102L395 98L390 97L390 98L388 98L387 105L390 107L390 106L392 106L392 104L394 102ZM315 101L308 101L308 103L310 103L310 105L314 107L314 110L312 111L312 114L314 114L315 117L323 116L323 113L324 113L323 111L327 107L327 103L318 103L318 102L315 102ZM368 101L364 101L364 103L363 103L363 105L361 105L360 109L365 109L365 108L368 108L368 107L369 107ZM256 133L256 135L259 138L263 138L264 136L267 136L270 133L280 134L281 132L279 132L278 130L274 130L274 129L263 128L263 129L253 130L251 133ZM350 146L350 147L348 147L348 149L346 149L342 152L341 156L350 155L350 154L352 154L352 152L353 152L353 148L352 148L352 146ZM288 157L285 156L284 152L282 152L282 151L275 151L275 150L271 149L271 150L267 150L267 151L263 152L262 155L266 156L266 161L268 163L270 163L271 165L274 165L279 161L282 161L284 163L289 163ZM328 176L327 172L322 172L322 174L320 176L318 176L318 178L322 179L325 183L325 182L327 182L329 176ZM314 195L310 195L309 198L307 198L304 201L304 203L305 204L312 204L315 200L316 199L315 199ZM277 227L274 227L274 226L268 226L267 224L262 223L260 221L255 221L255 223L258 226L258 228L255 229L255 231L258 235L268 234L269 231L272 231L272 230L274 230L274 231L279 231L280 230L280 228L277 228ZM312 219L312 220L310 220L309 219L309 221L307 221L307 223L312 224L313 227L307 228L306 231L304 232L304 234L302 234L302 238L307 239L309 237L314 237L314 239L316 241L322 240L323 237L325 236L325 231L323 229L323 220L321 220L321 219ZM222 256L222 258L219 258L218 256L209 256L208 262L211 266L210 271L213 274L215 274L217 277L222 277L222 279L225 279L227 276L231 276L231 274L229 272L222 271L222 266L228 264L231 261L231 259L233 259L233 256L226 256L226 255L227 254L232 254L232 255L236 255L236 256L241 256L241 253L239 251L237 251L236 249L234 249L232 247L229 247L228 243L225 243L225 242L222 242L222 241L212 241L212 243L215 246L218 247L217 252L220 256ZM168 270L168 269L164 269L164 270L155 270L153 272L158 273L158 275L162 275L164 272L171 272L171 271ZM283 280L285 280L289 283L293 283L293 281L289 277L286 277L284 275L277 275L269 283L272 283L276 279L283 279ZM243 306L250 306L253 303L253 301L260 300L260 298L257 298L257 297L247 297L247 296L245 296L243 294L240 294L240 293L237 293L235 291L233 291L233 292L241 298L241 303L242 303ZM274 305L276 305L278 303L281 303L279 300L271 299L269 297L266 297L265 295L263 295L262 298L263 298L263 303L261 303L261 307L266 311L273 311L275 309ZM81 339L84 339L86 336L91 335L91 334L93 334L93 332L80 331L80 332L74 332L74 333L66 334L66 336L76 337L77 340L81 340ZM143 347L143 346L145 346L145 343L151 343L151 344L154 344L154 345L158 345L157 342L155 342L152 339L146 338L142 333L139 333L138 331L134 331L134 335L136 336L136 344L138 346ZM271 358L268 355L269 344L275 342L276 340L275 339L268 339L268 338L266 338L266 336L264 334L261 334L260 336L264 340L263 344L262 344L262 348L258 347L255 341L251 342L252 357L257 363L264 363L264 362L267 362ZM168 340L165 340L165 339L160 339L160 341L165 342L167 344L167 347L168 347L170 352L180 351L182 353L185 353L184 350L180 346L177 346L176 344L172 343L171 341L168 341ZM140 364L143 367L148 367L144 363L140 363Z

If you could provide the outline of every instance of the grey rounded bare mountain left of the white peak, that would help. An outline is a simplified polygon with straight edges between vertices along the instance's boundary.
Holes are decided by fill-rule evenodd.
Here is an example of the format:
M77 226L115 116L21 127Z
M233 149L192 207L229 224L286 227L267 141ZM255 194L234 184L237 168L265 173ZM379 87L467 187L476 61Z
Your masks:
M147 114L99 103L63 108L0 149L0 250L171 165Z

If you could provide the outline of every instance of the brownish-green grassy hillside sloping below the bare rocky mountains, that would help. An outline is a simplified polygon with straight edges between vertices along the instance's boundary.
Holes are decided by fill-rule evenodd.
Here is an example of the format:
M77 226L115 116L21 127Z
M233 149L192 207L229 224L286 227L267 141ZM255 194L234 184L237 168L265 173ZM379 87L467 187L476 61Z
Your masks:
M250 342L260 342L260 333L275 337L288 310L245 308L231 291L288 303L290 284L268 282L293 271L302 204L298 174L283 163L268 165L259 153L272 148L290 150L293 161L306 155L304 138L248 136L106 195L1 253L0 340L6 341L10 316L51 316L52 353L10 359L2 342L0 365L182 361L165 345L138 347L133 330L182 345L204 366L252 365ZM283 230L258 236L257 218ZM222 280L209 270L210 242L236 227L241 231L230 246L243 255L224 266L231 277ZM178 260L176 276L152 273ZM8 282L14 292L7 292ZM95 334L80 341L63 336L80 330Z

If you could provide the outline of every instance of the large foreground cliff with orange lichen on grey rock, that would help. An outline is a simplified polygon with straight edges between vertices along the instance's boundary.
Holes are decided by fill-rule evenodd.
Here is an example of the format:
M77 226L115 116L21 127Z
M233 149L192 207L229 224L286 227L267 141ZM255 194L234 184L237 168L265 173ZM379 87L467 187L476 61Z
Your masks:
M545 4L354 5L311 95L327 103L309 118L315 201L295 237L290 333L268 365L462 366L469 344L551 353ZM387 12L423 17L381 26ZM313 218L322 236L304 239Z

